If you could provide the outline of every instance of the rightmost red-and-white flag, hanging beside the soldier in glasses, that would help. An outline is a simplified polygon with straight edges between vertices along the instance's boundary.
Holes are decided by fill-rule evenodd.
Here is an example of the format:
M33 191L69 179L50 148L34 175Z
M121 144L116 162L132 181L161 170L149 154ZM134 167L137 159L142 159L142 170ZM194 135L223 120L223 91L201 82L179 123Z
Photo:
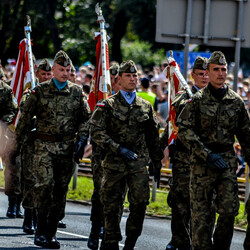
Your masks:
M172 59L172 58L171 58ZM176 96L176 94L182 89L182 84L179 79L180 69L179 65L176 63L174 59L169 60L168 66L164 69L166 77L169 80L168 86L168 107L169 107L169 116L168 116L168 125L169 125L169 137L168 137L168 145L173 143L177 138L178 127L175 125L176 112L174 107L172 106L172 102Z

